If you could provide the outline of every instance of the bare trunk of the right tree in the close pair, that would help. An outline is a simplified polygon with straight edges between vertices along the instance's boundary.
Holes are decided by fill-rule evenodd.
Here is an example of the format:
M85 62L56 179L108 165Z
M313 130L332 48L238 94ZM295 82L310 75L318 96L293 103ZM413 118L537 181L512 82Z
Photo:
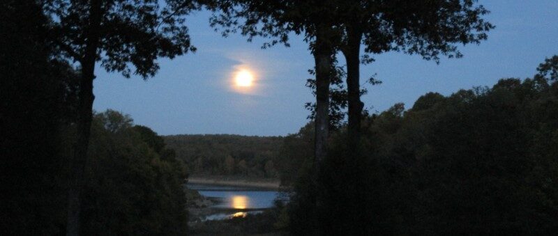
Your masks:
M356 29L347 31L347 45L342 50L347 61L347 91L349 107L348 148L350 154L356 154L361 140L362 109L360 88L360 52L362 32Z

